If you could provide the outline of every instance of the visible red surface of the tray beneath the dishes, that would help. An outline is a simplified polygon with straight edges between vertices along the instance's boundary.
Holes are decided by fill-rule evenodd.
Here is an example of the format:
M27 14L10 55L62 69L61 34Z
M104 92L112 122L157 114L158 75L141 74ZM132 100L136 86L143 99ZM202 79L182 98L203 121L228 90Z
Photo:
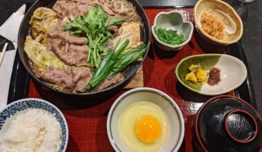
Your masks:
M193 9L145 9L150 20L150 25L154 21L154 17L158 12L178 10L182 12L185 20L193 21ZM197 41L196 41L197 40ZM196 34L192 35L191 41L178 52L163 52L154 45L150 48L145 63L143 64L144 86L157 88L174 99L181 108L185 120L185 137L181 146L181 151L192 150L192 119L201 107L203 102L210 99L210 96L198 95L188 91L177 82L174 70L181 59L190 55L198 55L203 53L226 53L223 48L201 48L199 44L203 44L201 38ZM37 82L30 81L30 91L28 97L36 97L46 99L63 112L68 122L69 142L67 151L85 152L85 151L113 151L106 133L106 119L110 106L114 100L126 90L120 91L111 99L105 102L92 103L92 101L78 101L72 99L65 102L66 99L57 96L56 93L46 91ZM228 93L234 95L233 91Z

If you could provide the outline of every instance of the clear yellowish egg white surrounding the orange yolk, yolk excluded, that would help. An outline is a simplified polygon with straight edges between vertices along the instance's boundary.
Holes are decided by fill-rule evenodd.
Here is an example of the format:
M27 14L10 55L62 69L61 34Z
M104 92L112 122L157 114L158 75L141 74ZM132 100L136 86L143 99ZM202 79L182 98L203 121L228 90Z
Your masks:
M152 144L146 144L139 140L135 133L135 124L139 117L144 115L152 115L159 120L161 124L161 136L159 140ZM162 146L168 142L170 138L170 122L165 112L152 102L135 102L125 108L119 117L119 134L130 151L161 151Z

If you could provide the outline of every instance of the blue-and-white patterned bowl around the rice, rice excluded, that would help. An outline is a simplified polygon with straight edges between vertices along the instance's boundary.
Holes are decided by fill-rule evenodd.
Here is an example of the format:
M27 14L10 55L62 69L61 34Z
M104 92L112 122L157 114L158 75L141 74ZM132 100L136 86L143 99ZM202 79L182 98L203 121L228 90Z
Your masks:
M26 113L29 109L32 108L41 108L45 111L48 111L49 113L52 113L52 115L54 115L54 117L57 118L57 121L59 122L62 131L62 141L59 152L66 151L69 136L66 118L63 116L63 113L61 113L61 111L56 106L43 99L19 99L16 102L12 102L11 104L8 104L6 107L0 109L0 136L3 135L3 133L6 133L12 120L14 120L17 117L17 115Z

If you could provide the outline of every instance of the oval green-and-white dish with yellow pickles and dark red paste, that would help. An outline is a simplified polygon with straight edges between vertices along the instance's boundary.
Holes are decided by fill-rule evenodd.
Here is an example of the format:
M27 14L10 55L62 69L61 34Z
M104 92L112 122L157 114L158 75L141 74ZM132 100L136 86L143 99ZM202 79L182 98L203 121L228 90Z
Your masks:
M178 82L191 91L221 95L239 87L247 77L247 69L236 57L204 54L182 59L175 74Z

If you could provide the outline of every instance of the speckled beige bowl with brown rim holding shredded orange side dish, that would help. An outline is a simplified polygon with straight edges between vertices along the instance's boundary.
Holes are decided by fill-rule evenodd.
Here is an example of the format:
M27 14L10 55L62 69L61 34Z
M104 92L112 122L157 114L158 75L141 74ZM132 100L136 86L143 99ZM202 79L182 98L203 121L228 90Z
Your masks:
M242 37L243 23L234 8L220 0L200 0L194 6L199 35L211 44L234 44Z

